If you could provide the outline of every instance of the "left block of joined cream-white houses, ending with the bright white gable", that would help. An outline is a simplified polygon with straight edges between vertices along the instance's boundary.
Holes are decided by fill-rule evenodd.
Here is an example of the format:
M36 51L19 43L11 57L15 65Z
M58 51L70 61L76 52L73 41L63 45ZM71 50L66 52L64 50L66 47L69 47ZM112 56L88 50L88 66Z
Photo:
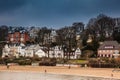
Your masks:
M30 45L25 46L24 44L20 45L5 45L2 51L2 57L8 56L8 57L33 57L34 55L38 55L38 57L45 56L45 52L41 50L39 45Z

